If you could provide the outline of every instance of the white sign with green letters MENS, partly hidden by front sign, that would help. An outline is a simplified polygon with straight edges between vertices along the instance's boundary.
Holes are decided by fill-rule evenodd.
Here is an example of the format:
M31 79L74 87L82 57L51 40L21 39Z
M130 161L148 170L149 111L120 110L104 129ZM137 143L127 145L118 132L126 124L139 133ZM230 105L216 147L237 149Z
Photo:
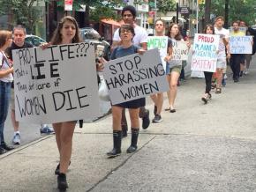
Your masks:
M147 49L158 48L160 57L162 60L162 67L166 71L166 62L164 58L167 55L168 37L166 36L148 36L147 37Z

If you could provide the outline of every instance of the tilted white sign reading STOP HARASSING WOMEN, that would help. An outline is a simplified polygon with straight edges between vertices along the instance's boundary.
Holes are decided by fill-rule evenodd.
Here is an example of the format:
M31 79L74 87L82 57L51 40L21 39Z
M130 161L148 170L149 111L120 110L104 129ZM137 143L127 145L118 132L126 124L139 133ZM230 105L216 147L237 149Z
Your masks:
M169 90L157 49L112 60L103 75L113 105Z

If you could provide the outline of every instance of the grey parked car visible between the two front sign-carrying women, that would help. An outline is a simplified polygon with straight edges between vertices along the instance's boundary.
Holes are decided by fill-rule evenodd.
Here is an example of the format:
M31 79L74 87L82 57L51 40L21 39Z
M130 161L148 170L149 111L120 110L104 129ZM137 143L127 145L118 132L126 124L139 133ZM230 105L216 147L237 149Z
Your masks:
M110 44L92 27L80 28L80 35L84 41L92 41L95 45L96 57L103 56L105 59L110 58Z

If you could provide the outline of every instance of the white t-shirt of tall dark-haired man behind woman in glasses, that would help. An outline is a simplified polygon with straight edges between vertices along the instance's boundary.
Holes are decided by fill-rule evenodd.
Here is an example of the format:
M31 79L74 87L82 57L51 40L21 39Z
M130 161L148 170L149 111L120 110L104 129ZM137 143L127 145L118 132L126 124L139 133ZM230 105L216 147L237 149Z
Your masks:
M147 31L141 26L134 27L134 37L132 39L133 45L140 46L141 43L147 42ZM116 30L113 36L113 41L121 41L119 36L119 28Z

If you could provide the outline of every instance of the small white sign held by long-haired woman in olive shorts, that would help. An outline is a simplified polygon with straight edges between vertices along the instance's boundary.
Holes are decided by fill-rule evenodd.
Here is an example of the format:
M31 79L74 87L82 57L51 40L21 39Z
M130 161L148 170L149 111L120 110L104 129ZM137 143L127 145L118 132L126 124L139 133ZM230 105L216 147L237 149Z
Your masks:
M172 41L172 49L172 60L187 60L189 48L186 41Z

